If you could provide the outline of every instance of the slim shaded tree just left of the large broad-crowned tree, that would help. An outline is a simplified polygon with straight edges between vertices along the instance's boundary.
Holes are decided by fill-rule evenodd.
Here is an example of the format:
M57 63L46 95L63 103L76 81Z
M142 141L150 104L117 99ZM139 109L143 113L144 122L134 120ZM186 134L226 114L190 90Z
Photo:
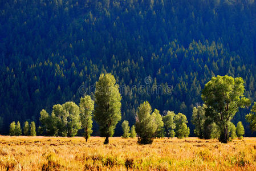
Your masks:
M195 125L194 134L200 139L204 138L205 108L205 105L193 108L192 123Z

